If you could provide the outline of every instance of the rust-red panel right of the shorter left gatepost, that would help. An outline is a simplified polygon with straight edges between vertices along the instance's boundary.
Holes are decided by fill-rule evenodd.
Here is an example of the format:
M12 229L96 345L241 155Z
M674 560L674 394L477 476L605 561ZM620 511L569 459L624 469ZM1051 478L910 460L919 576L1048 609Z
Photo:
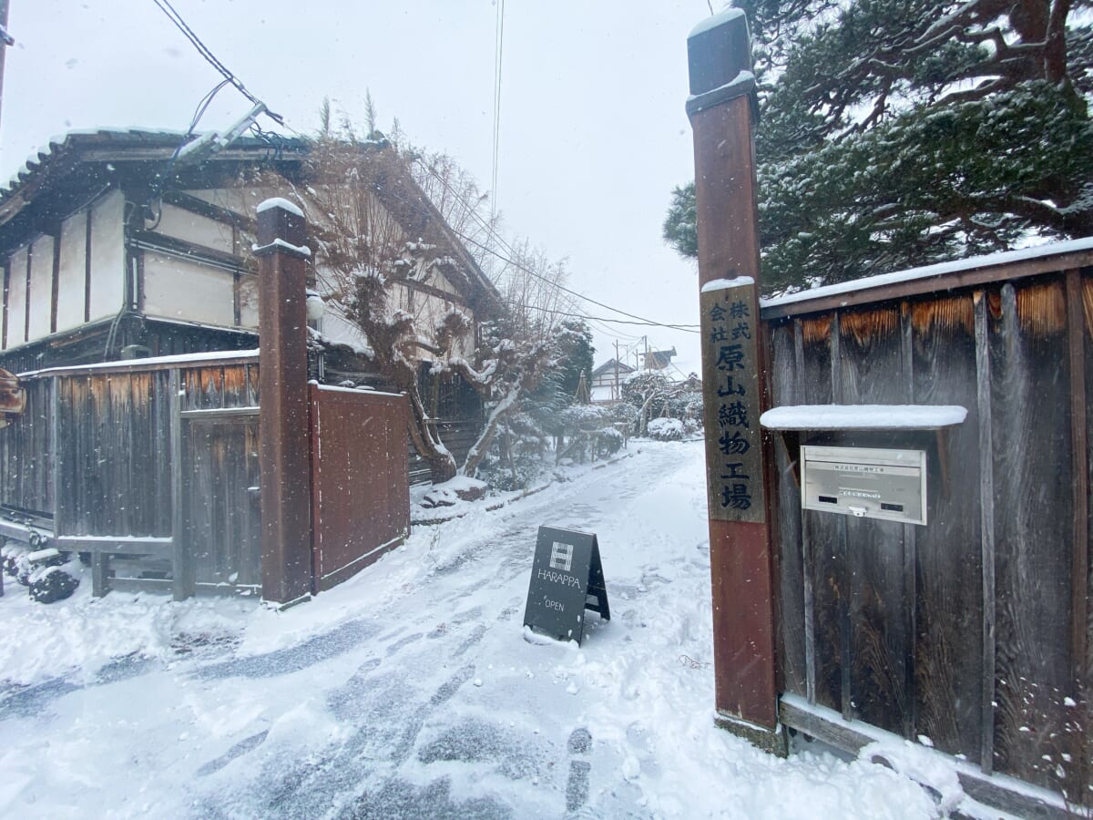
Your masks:
M345 581L410 531L404 396L308 385L316 593Z

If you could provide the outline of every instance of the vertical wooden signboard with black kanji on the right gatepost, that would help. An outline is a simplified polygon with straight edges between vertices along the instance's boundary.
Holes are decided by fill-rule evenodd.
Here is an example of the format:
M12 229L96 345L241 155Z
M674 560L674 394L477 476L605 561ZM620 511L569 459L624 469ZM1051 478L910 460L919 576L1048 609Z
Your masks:
M751 277L716 279L700 295L709 517L766 520L759 424L759 317Z

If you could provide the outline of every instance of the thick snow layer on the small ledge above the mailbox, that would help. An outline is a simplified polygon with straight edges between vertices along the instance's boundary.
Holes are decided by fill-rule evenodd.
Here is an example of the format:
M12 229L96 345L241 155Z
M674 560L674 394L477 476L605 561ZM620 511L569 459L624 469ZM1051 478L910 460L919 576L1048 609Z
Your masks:
M938 430L966 418L959 405L786 405L759 421L769 430Z

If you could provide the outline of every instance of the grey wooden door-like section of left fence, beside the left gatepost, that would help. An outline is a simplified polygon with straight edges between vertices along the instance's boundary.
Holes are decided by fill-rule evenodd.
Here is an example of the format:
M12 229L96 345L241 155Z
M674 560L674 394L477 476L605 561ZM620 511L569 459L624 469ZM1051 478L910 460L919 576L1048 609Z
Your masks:
M183 450L183 517L196 584L260 588L258 417L187 419Z

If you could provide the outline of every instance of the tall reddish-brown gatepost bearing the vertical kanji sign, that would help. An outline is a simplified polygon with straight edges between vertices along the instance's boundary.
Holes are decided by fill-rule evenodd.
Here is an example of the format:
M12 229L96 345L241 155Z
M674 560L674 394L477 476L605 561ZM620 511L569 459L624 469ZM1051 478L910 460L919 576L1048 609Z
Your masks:
M768 398L759 315L755 79L743 12L729 9L696 26L687 58L718 723L784 754L767 507L772 459L759 423Z

